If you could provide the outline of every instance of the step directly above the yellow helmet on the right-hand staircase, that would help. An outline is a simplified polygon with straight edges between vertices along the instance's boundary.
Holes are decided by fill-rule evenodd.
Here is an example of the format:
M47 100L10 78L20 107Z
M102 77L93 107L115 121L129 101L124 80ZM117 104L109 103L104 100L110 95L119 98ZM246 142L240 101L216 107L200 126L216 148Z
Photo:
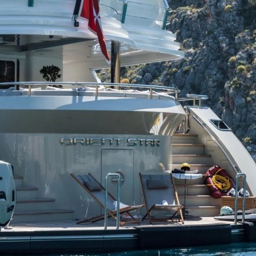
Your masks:
M211 155L172 155L173 164L210 164L212 163Z

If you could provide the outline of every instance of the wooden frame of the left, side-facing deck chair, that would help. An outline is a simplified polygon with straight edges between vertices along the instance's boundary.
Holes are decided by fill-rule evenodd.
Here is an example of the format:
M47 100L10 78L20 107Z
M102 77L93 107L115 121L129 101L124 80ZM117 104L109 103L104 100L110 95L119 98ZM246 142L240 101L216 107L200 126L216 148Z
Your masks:
M89 176L89 177L91 177L91 178L92 178L94 181L96 181L96 183L101 187L101 189L102 189L102 191L104 191L104 195L105 195L105 188L104 188L91 174L88 174L88 175L74 175L74 174L71 174L71 176L77 181L77 183L79 183L79 184L82 186L82 188L85 189L85 191L87 191L87 192L89 193L90 196L93 197L93 199L94 199L98 204L101 205L101 207L102 207L103 209L105 209L105 204L102 203L102 201L101 201L100 199L98 199L97 196L94 195L94 193L93 193L92 191L90 191L90 190L84 185L84 182L81 181L81 180L83 180L83 179L82 179L82 176ZM81 180L79 179L78 176L80 177ZM108 199L109 199L109 200L112 200L112 202L113 202L113 201L117 201L117 200L115 199L115 197L112 196L111 193L109 193L109 192L108 192ZM110 203L110 204L113 205L113 203ZM133 214L131 214L130 212L131 212L132 210L141 209L142 207L144 207L144 205L134 205L134 206L127 205L127 207L120 208L120 210L119 210L119 213L120 213L120 214L126 213L126 214L128 214L129 217L131 217L131 219L132 219L131 221L125 221L125 222L120 221L120 222L119 222L120 225L123 226L123 225L129 224L129 223L137 223L137 224L139 225L139 221L140 221L140 220L138 220L138 218L134 218ZM117 210L115 210L115 209L113 210L113 209L109 209L109 208L108 208L108 218L109 218L109 217L113 217L114 220L117 220L116 214L117 214ZM85 222L96 222L96 221L103 220L104 218L105 218L105 214L99 214L99 215L94 216L94 217L91 217L91 218L86 218L86 219L84 219L84 220L77 221L76 223L77 223L77 224L81 224L81 223L85 223Z

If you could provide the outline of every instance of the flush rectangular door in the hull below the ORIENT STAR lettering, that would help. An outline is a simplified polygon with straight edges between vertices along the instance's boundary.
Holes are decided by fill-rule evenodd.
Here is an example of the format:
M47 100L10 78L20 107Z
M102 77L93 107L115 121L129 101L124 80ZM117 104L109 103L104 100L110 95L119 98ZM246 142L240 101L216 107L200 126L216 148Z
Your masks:
M134 204L134 168L133 150L102 150L101 151L101 184L105 187L107 174L118 173L120 179L120 201L123 204ZM108 178L109 192L117 198L117 177Z

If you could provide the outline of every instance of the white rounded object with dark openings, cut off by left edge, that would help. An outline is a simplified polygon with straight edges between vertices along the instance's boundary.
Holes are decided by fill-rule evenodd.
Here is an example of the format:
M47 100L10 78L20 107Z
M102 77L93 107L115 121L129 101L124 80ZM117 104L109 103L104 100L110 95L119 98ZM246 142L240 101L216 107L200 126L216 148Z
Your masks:
M11 164L0 160L0 226L7 226L13 217L16 191Z

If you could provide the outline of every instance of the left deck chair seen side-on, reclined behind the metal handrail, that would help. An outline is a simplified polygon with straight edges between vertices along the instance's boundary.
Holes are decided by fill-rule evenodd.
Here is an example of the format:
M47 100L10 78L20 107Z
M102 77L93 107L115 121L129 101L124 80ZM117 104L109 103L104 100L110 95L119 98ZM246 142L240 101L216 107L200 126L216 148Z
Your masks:
M101 205L101 207L105 208L105 188L91 175L74 175L71 174L71 176L89 193L90 196L93 197L93 199ZM107 207L108 207L108 217L113 217L114 220L117 220L116 214L117 210L115 209L114 202L117 201L114 196L112 196L110 193L108 193L108 201L107 201ZM120 203L119 205L119 213L123 214L126 213L130 218L131 221L120 221L120 225L128 224L128 223L137 223L139 224L138 218L135 218L130 212L132 210L140 209L144 207L144 205L125 205ZM96 222L99 220L103 220L105 217L105 214L100 214L98 216L94 216L92 218L86 218L85 220L78 221L77 224L81 224L84 222Z

